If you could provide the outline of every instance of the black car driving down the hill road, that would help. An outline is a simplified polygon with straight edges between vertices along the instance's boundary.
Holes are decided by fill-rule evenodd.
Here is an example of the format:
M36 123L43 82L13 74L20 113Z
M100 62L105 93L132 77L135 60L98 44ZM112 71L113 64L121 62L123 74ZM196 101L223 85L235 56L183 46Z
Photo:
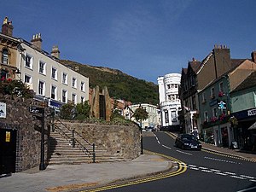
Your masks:
M175 140L175 145L178 148L188 148L201 150L201 143L198 141L197 137L189 134L180 134Z

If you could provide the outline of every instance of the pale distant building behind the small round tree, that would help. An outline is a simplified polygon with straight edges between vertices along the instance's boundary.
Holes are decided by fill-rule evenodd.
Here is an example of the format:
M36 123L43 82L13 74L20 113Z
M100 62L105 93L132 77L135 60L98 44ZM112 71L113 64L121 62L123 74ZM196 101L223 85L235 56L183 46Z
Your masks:
M137 108L144 108L148 112L148 119L142 120L142 122L137 122L135 118L132 117L132 114L136 111ZM156 106L142 103L137 105L131 105L125 108L125 119L131 119L134 122L137 122L138 125L142 124L142 128L154 127L155 129L160 125L160 113Z

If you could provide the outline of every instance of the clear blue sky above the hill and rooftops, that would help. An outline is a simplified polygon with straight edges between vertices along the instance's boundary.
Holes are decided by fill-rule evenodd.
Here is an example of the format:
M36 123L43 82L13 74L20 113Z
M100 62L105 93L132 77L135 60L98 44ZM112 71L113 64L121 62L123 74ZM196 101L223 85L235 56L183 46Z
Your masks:
M255 0L9 0L2 6L14 36L40 32L43 49L58 45L61 59L119 69L157 83L181 73L214 44L232 58L256 49Z

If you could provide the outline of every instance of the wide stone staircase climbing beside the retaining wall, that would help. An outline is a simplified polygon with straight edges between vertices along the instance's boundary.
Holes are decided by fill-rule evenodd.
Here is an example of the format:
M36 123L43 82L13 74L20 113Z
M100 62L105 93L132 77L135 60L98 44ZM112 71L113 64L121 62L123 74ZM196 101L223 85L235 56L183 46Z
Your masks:
M95 156L94 156L95 154ZM49 137L49 165L122 161L125 158L93 146L59 121Z

